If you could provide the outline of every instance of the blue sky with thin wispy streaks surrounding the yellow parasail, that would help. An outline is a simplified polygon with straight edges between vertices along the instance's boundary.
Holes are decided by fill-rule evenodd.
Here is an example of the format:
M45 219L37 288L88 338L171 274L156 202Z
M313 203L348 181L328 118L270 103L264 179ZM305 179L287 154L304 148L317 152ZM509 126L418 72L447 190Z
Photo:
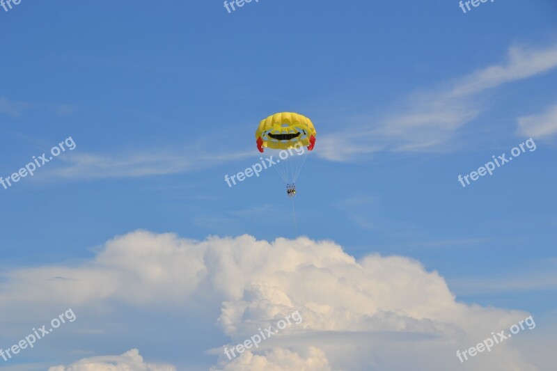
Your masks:
M356 259L415 259L457 301L523 310L553 329L556 27L550 0L496 0L466 14L440 0L260 0L230 14L221 1L0 8L0 176L69 136L77 145L0 187L0 269L86 265L136 230L294 238L276 172L232 188L223 177L258 161L262 118L295 111L317 129L297 181L301 235ZM458 182L528 138L535 151ZM12 301L10 290L0 296ZM118 308L113 321L125 317ZM219 303L208 311L218 317ZM10 324L1 345L24 323ZM207 342L190 339L189 367L207 370L216 358L203 351L227 340L200 331ZM123 349L80 346L134 347L118 341ZM40 352L19 356L21 370L88 356ZM185 367L179 352L148 353Z

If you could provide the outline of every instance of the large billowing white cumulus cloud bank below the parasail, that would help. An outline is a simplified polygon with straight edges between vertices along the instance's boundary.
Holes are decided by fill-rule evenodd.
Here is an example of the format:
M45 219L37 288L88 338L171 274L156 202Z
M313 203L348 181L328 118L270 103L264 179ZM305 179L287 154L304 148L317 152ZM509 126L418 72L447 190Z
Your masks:
M199 310L219 306L218 318L203 326L217 323L230 339L223 347L299 311L300 324L237 358L213 350L214 370L535 370L512 341L468 363L455 356L527 313L459 303L444 278L415 260L377 254L356 260L334 242L306 237L194 241L140 230L112 239L79 265L8 271L0 297L8 321L22 320L18 309L37 303L43 309L64 303L79 310L81 321L93 315L86 308L115 310L118 303L153 313L175 308L197 321ZM80 362L91 359L107 362Z

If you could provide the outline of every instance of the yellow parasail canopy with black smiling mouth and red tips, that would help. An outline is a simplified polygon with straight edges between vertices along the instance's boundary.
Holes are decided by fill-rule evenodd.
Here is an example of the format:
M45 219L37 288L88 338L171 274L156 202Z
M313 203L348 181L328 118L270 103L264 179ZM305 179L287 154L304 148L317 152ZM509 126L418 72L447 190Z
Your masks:
M263 152L265 147L288 150L300 145L313 150L316 135L313 123L306 116L294 112L275 113L259 123L256 131L257 148Z

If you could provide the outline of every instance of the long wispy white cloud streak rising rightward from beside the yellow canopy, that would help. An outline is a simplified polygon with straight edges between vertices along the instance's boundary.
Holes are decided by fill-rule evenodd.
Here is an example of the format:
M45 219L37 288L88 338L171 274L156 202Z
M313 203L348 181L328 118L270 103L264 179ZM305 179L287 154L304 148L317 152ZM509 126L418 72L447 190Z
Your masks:
M464 77L446 81L441 88L414 94L398 113L375 118L375 127L357 127L320 138L317 154L331 161L351 161L361 155L393 152L432 152L451 149L458 129L485 110L482 94L503 84L533 77L556 68L557 45L545 49L511 47L507 60ZM545 122L525 126L541 132L553 130ZM534 129L533 129L534 130ZM353 134L350 134L353 133Z

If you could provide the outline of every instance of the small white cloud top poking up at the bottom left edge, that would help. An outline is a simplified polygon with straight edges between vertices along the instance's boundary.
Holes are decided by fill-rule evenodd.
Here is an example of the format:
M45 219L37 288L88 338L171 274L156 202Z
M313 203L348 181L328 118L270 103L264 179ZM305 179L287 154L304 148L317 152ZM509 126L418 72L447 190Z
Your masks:
M84 358L66 367L51 367L48 371L176 371L176 368L173 365L145 363L139 350L132 349L121 356Z

